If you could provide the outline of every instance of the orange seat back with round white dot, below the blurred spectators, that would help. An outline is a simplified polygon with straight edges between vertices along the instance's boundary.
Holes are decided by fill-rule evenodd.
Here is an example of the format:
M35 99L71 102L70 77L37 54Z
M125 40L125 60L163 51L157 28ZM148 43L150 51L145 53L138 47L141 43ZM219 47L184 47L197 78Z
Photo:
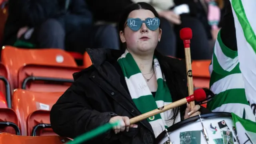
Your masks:
M8 80L10 81L14 90L18 88L18 86L22 85L24 79L28 76L39 75L39 76L50 76L62 78L60 71L56 71L60 69L66 70L68 68L76 68L76 62L74 58L60 49L23 49L23 48L15 48L12 46L4 46L2 48L2 63L9 70ZM28 66L30 65L30 66ZM37 66L35 72L34 69L31 68L31 65ZM48 71L41 71L42 67L46 68L49 66ZM28 72L24 72L23 67L29 67ZM52 69L54 67L58 67L57 69ZM32 70L32 72L31 72ZM40 74L38 71L41 71ZM19 74L18 73L22 73ZM74 72L74 70L72 71ZM18 80L19 77L19 80ZM64 76L67 77L67 76ZM68 74L68 77L72 79L72 75ZM45 88L46 89L46 88Z

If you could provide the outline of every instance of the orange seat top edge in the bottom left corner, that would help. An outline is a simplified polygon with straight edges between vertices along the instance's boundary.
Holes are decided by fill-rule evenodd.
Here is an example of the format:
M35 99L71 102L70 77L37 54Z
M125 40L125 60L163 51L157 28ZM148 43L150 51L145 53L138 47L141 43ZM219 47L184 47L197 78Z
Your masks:
M0 144L64 144L68 138L60 136L17 136L1 133Z

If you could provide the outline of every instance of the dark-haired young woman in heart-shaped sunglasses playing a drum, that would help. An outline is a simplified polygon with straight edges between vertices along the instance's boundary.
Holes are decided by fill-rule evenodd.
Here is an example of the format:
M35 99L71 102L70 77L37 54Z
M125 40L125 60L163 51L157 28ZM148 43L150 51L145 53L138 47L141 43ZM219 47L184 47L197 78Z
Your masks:
M147 3L124 10L119 30L126 49L87 50L93 65L74 74L75 82L52 107L54 132L75 138L120 120L120 126L86 144L153 144L166 127L206 111L188 104L130 125L129 118L188 96L185 62L155 50L159 26L156 10Z

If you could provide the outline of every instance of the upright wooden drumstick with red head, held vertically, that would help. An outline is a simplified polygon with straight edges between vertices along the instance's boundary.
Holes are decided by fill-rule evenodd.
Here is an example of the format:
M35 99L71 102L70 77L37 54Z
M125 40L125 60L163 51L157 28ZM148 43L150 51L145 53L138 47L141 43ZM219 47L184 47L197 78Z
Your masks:
M190 54L190 39L192 38L192 30L190 28L182 28L180 30L180 38L183 40L185 49L185 59L186 59L186 70L187 70L187 80L188 80L188 95L194 93L193 86L193 75L192 75L192 65L191 65L191 54ZM190 102L190 107L194 108L195 102Z

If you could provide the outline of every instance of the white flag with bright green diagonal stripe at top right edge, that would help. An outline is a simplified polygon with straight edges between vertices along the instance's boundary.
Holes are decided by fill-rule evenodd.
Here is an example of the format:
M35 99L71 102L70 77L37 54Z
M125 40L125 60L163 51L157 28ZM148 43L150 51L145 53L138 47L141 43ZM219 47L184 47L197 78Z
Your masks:
M254 106L256 116L256 1L230 0L234 24L240 70L244 80L246 98Z

